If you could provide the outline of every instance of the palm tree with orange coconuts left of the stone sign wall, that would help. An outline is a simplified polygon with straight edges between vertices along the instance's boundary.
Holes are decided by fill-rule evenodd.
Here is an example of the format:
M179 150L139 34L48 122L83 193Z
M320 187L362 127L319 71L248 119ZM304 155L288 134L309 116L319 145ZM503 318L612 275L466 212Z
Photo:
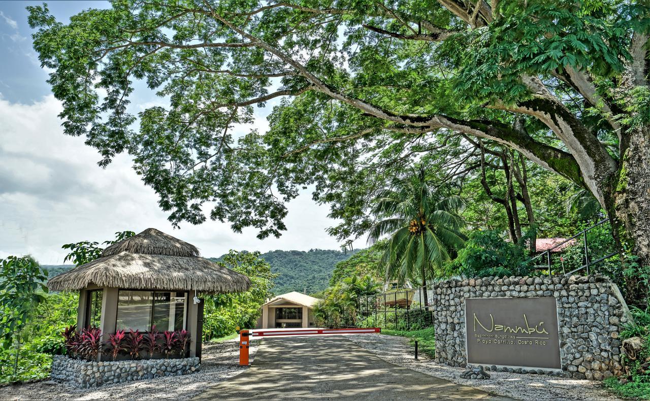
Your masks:
M427 278L443 274L441 268L450 259L450 251L465 244L458 214L461 203L460 197L444 188L432 190L424 170L396 179L392 188L374 200L371 213L376 223L369 242L390 236L382 256L386 281L421 279L426 287Z

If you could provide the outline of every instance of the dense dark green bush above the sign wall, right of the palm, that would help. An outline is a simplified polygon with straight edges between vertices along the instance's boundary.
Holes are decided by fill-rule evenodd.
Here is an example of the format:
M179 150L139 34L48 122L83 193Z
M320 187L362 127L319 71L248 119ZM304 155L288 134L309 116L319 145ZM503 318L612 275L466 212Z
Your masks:
M496 231L474 231L447 268L465 277L525 276L527 260L522 246L506 242Z

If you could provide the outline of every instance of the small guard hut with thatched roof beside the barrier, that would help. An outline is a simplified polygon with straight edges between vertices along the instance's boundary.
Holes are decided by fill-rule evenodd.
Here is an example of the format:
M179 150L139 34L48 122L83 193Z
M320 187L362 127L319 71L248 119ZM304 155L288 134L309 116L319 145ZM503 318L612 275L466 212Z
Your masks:
M104 340L117 330L185 329L188 356L194 357L201 356L199 294L248 291L250 279L200 257L194 245L149 228L50 279L47 287L79 291L78 328L98 327Z

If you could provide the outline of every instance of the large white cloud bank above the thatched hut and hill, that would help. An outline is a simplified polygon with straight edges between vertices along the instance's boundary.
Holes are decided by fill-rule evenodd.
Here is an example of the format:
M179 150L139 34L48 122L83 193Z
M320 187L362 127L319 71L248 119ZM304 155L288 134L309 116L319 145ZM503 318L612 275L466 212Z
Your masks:
M174 230L157 195L131 169L131 159L120 155L107 169L99 168L99 155L83 138L62 134L60 110L53 96L31 105L0 98L0 257L31 253L41 263L60 264L62 244L103 241L116 231L147 227L187 240L205 256L229 249L338 248L324 231L336 222L308 193L290 203L288 230L279 239L258 240L255 229L235 234L228 224L212 221ZM266 120L255 117L265 131Z

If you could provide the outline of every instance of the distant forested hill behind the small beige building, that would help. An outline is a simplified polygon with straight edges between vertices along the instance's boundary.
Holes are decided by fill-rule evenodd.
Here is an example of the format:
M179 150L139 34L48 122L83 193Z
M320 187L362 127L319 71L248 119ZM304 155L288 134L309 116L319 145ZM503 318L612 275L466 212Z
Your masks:
M275 279L275 294L291 291L313 294L326 289L334 266L356 252L320 249L307 252L278 250L262 253L261 257L271 265L272 272L279 274ZM216 258L218 259L221 257Z

